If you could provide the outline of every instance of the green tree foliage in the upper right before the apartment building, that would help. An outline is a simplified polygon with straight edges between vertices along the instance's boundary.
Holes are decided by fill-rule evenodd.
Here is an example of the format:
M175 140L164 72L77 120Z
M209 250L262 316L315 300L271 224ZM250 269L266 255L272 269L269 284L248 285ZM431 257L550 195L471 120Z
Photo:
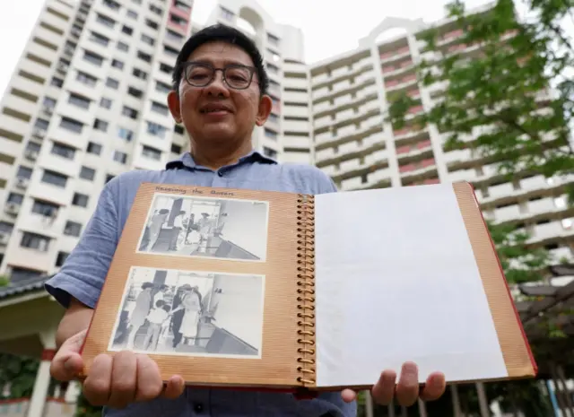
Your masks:
M448 4L453 30L461 31L457 44L481 48L441 44L436 28L423 33L430 52L418 66L420 80L448 85L420 123L446 135L446 151L473 148L485 161L499 162L501 174L560 177L574 172L574 80L566 74L574 49L561 27L573 4L526 0L526 6L526 18L517 19L512 0L478 14L466 14L462 0ZM401 94L391 101L389 120L400 129L416 99ZM574 188L568 193L574 202Z

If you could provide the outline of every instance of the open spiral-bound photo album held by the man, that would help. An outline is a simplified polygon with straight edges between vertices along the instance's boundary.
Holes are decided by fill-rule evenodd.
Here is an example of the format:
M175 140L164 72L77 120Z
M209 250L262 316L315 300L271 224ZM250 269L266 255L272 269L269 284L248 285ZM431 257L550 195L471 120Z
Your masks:
M143 184L83 345L188 385L449 383L536 365L472 186L300 195Z

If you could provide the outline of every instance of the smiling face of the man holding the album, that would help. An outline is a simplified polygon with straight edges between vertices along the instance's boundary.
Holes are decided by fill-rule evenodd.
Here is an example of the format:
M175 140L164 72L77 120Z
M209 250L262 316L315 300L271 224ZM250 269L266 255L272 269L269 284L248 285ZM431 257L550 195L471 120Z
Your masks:
M188 62L213 65L246 65L253 67L247 52L225 42L205 43L188 58ZM173 100L170 99L170 100ZM270 99L265 97L265 100ZM257 74L245 90L234 90L223 82L222 71L216 71L212 83L194 87L187 83L185 74L179 83L178 116L197 143L229 143L251 137L254 126L262 125L269 114L262 106ZM170 106L173 107L173 106ZM270 108L270 106L269 106Z

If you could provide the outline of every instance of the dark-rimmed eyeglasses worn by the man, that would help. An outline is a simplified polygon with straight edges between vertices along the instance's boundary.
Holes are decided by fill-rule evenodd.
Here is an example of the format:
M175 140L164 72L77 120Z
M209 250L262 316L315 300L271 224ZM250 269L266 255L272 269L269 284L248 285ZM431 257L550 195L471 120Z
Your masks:
M215 73L221 71L223 83L234 90L245 90L251 85L255 73L255 68L247 65L226 65L223 68L215 68L209 64L186 62L182 66L184 78L193 87L206 87L213 83Z

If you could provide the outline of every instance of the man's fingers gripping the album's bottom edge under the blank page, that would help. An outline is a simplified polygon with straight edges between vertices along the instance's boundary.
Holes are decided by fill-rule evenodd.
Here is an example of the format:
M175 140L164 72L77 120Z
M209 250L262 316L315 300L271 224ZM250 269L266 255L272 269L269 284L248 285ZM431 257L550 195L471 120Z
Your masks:
M445 392L447 385L444 374L433 372L427 378L422 390L419 389L419 370L415 363L404 362L401 376L396 384L396 372L385 370L378 378L377 384L372 387L370 394L373 400L381 405L390 404L393 399L399 405L409 406L416 403L419 396L423 401L432 401ZM345 402L350 403L357 397L351 389L344 389L341 393Z

